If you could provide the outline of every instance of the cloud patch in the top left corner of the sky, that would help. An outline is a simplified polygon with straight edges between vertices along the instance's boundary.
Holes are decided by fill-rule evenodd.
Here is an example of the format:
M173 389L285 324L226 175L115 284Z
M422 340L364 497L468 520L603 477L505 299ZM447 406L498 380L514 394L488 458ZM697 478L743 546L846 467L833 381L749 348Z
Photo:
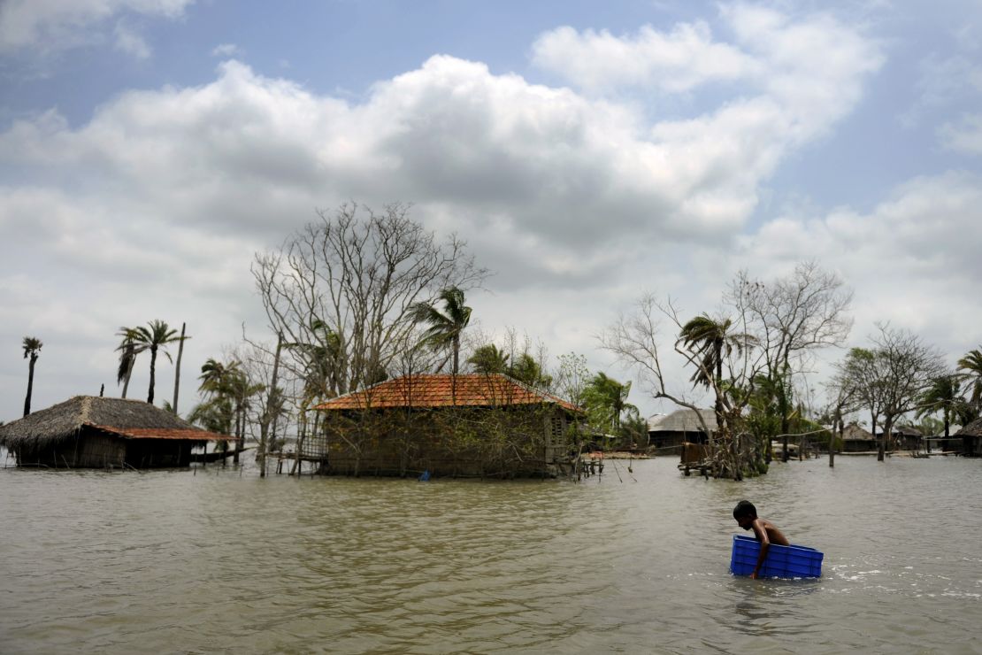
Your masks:
M121 15L175 19L193 0L6 0L0 4L0 52L51 52L108 40ZM118 47L140 48L132 35Z

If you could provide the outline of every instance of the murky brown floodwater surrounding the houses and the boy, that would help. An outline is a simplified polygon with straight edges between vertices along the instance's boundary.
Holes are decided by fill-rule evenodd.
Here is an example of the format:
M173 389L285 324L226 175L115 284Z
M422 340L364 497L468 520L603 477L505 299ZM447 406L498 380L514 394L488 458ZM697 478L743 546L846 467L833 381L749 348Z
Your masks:
M982 461L741 483L0 470L0 652L982 652ZM748 498L825 553L728 573Z

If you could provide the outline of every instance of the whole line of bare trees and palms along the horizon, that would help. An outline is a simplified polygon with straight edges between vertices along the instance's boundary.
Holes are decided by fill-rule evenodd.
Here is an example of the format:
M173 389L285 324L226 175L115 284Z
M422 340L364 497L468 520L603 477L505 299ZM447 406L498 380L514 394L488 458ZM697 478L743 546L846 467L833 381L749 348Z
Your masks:
M401 375L448 371L502 373L587 410L589 430L625 443L646 443L646 424L627 403L630 382L590 372L582 355L568 354L550 369L541 344L532 348L510 329L504 342L469 329L466 293L488 276L451 236L438 242L409 218L409 207L382 212L345 204L295 233L280 248L255 255L255 288L274 345L244 337L229 356L209 357L200 368L200 403L191 422L236 436L263 432L262 449L282 435L319 429L324 400ZM841 347L851 330L851 293L835 274L802 262L784 278L761 281L740 272L724 292L722 306L684 318L671 301L638 300L601 336L602 348L631 366L642 391L687 409L707 397L717 426L703 425L718 446L715 474L736 477L766 471L772 439L838 426L844 417L868 411L872 424L889 434L900 416L940 412L946 435L953 418L967 422L982 402L982 350L970 351L948 369L933 348L907 331L877 325L868 348L853 348L837 363L826 385L827 404L814 407L803 385L812 357ZM674 334L662 335L668 318ZM138 355L149 354L147 402L154 401L157 356L173 361L179 345L174 402L177 410L181 352L190 339L165 321L121 327L117 383L127 396ZM665 344L668 344L666 349ZM25 415L30 410L40 340L26 337L28 363ZM980 347L982 348L982 347ZM668 353L691 371L691 389L677 389L663 374ZM966 390L968 396L965 396ZM456 391L456 389L455 389ZM698 414L697 412L697 415ZM267 434L268 433L268 434ZM881 444L881 454L884 445Z

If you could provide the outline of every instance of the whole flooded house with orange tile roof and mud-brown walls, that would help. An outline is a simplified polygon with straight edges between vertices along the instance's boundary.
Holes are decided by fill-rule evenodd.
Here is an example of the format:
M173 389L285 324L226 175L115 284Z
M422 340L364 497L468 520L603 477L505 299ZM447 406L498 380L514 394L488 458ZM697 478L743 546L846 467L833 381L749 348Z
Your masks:
M321 469L342 475L555 476L584 412L502 374L416 374L316 406Z

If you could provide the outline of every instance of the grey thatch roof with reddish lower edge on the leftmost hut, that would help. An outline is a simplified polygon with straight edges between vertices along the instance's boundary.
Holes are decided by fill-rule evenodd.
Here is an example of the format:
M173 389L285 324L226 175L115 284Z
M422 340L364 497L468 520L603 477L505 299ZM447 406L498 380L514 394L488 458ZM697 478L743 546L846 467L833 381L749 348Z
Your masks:
M45 447L74 437L82 427L124 439L232 439L194 427L177 414L142 401L76 396L0 426L0 445Z

